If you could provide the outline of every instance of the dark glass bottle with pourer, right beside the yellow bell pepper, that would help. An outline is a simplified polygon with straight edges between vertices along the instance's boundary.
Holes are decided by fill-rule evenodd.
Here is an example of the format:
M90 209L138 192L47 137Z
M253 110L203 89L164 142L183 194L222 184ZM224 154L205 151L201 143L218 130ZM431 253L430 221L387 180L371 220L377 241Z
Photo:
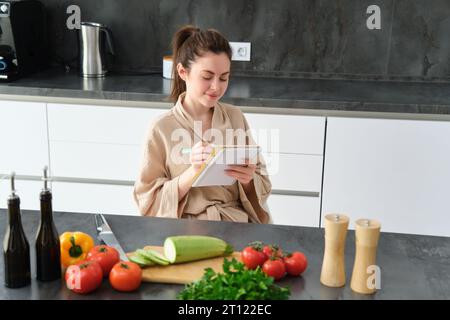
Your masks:
M58 231L53 223L52 192L47 187L47 167L44 168L43 180L41 223L36 234L36 278L52 281L61 278L61 252Z

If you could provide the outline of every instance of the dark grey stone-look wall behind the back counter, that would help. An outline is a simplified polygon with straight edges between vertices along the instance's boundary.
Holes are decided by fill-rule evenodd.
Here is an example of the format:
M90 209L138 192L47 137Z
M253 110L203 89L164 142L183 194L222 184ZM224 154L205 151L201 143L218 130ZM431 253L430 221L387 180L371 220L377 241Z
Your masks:
M42 0L49 12L54 58L76 57L76 32L65 27L70 4L83 21L113 31L116 69L161 69L171 35L183 24L216 28L230 41L252 43L252 75L448 80L448 0ZM369 30L369 5L381 30Z

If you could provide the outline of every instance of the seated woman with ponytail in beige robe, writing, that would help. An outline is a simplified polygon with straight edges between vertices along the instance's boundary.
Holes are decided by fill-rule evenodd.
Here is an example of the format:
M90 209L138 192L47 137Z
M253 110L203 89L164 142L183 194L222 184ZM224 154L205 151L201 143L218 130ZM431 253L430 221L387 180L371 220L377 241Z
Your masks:
M265 207L271 183L263 174L266 170L261 158L256 164L230 166L226 173L237 180L233 185L192 187L196 173L210 156L211 143L217 141L217 133L223 138L231 129L249 130L239 108L219 103L230 77L228 41L216 30L185 26L175 33L172 46L171 98L176 104L154 121L148 132L144 161L134 188L140 213L270 223ZM181 143L180 137L184 138ZM224 144L238 144L236 136L231 139ZM255 144L251 136L246 137L245 143ZM190 147L190 154L179 152L180 145Z

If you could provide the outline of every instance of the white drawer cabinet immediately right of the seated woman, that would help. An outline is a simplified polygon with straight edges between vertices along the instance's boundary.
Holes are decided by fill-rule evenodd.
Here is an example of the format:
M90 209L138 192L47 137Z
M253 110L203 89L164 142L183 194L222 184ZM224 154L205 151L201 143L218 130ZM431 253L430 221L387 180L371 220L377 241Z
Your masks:
M268 199L273 223L319 227L325 117L258 113L245 117L277 192ZM302 192L317 196L297 195Z

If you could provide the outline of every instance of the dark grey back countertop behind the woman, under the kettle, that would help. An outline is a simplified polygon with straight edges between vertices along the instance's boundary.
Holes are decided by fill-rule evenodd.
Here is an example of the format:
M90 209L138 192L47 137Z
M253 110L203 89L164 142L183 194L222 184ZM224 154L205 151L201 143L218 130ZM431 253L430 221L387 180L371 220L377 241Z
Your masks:
M224 102L238 106L315 111L450 114L450 84L235 76ZM83 79L76 72L49 69L11 83L0 95L162 102L170 80L160 74Z

